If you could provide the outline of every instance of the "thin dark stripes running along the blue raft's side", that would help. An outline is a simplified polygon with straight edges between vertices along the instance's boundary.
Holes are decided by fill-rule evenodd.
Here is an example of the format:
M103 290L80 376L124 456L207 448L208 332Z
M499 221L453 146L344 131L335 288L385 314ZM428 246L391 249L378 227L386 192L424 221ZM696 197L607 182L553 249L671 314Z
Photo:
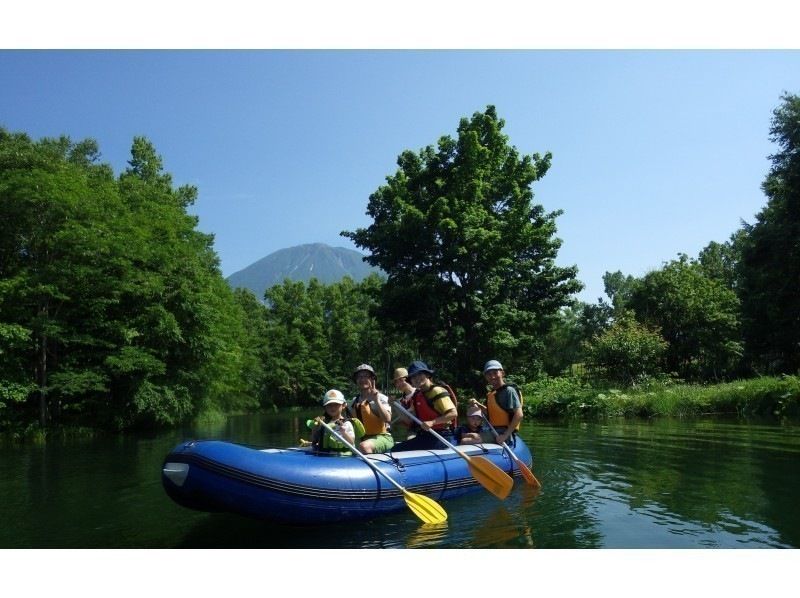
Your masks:
M167 457L167 461L173 463L187 463L188 465L194 465L196 467L200 467L201 469L204 469L211 473L215 473L225 478L229 478L231 480L235 480L238 482L242 482L244 484L256 486L258 488L264 488L266 490L271 490L273 492L280 492L281 494L287 494L292 496L303 496L307 498L319 498L324 500L369 500L369 501L378 500L379 498L384 498L384 499L402 498L403 496L403 493L400 490L396 489L394 486L390 488L382 487L381 490L378 491L378 490L358 490L358 489L337 490L331 488L316 488L313 486L292 484L282 480L276 480L274 478L267 478L254 473L250 473L242 469L231 467L230 465L223 465L222 463L214 461L213 459L208 459L206 457L194 454L187 455L187 454L173 453ZM514 468L514 471L511 473L513 473L513 477L520 477L522 475L518 468ZM433 482L430 484L418 484L416 486L406 486L405 488L410 492L417 492L419 494L426 494L429 496L438 496L445 489L454 490L459 488L468 488L470 486L476 486L476 485L478 485L477 480L475 480L472 476L469 476L458 480L448 480L446 484L445 482Z

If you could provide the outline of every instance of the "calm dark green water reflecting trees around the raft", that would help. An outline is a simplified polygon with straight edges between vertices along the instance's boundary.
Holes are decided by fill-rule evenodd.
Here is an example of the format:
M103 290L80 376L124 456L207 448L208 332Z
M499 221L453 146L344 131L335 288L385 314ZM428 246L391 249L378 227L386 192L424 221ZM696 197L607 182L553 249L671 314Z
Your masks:
M314 412L316 413L316 412ZM535 491L521 481L373 525L286 527L174 504L167 452L189 438L295 446L308 414L230 418L149 436L0 448L0 548L800 547L800 428L722 420L526 422Z

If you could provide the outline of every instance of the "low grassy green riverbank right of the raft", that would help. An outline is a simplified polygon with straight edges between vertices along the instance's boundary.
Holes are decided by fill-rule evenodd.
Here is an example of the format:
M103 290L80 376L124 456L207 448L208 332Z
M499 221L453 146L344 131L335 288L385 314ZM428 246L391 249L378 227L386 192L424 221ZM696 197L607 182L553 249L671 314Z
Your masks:
M696 417L736 415L800 419L800 377L779 376L722 384L651 382L636 387L548 378L522 386L528 418Z

